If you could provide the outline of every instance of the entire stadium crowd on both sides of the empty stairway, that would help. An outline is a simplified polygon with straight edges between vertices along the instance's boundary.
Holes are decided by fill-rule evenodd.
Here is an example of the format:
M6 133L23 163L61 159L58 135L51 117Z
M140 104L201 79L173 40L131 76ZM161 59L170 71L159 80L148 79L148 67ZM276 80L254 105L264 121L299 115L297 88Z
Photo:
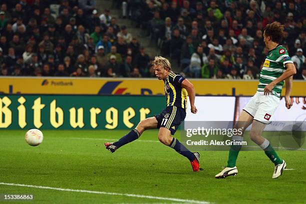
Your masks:
M151 58L95 0L0 0L0 75L154 77ZM283 42L306 79L302 0L116 0L180 71L198 78L258 78L262 31L284 24Z

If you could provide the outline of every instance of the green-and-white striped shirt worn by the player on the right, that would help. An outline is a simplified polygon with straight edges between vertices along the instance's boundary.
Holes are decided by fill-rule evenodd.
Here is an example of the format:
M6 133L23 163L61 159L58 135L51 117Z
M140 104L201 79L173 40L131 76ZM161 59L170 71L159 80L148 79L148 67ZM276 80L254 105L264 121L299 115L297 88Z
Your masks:
M278 45L274 49L271 49L266 56L263 67L260 71L259 83L257 91L262 91L264 87L279 77L286 69L286 63L293 63L291 57L288 55L287 49ZM272 89L272 94L280 97L281 89L283 87L283 81L277 83Z

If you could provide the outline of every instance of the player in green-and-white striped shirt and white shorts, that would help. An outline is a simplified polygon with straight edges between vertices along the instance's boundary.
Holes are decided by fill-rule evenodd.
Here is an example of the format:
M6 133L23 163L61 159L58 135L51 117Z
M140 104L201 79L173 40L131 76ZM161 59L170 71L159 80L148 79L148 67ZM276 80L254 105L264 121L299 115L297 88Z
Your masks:
M279 43L282 39L283 25L279 22L267 24L263 32L263 41L269 52L264 60L260 72L259 83L255 95L245 105L239 114L235 128L246 129L250 124L250 138L261 149L267 157L274 163L272 178L281 175L286 167L286 162L275 152L270 142L261 136L266 124L270 123L270 118L279 104L279 97L283 83L286 83L285 106L289 109L292 104L290 93L292 89L292 76L296 73L293 62L288 55L286 48ZM232 140L242 141L241 135L232 136ZM238 173L236 159L241 145L232 145L229 149L227 166L218 174L216 178L224 178L228 175Z

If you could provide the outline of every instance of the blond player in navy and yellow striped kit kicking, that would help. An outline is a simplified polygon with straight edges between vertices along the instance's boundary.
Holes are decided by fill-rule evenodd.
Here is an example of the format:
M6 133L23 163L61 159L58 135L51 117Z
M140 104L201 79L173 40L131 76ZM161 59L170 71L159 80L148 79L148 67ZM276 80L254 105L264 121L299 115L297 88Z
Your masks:
M104 145L110 152L114 152L122 145L137 139L144 130L159 128L159 141L188 158L193 171L198 171L199 153L189 151L178 141L178 139L172 136L178 128L178 125L185 119L187 95L189 95L191 112L197 112L194 105L194 87L192 83L183 76L172 72L170 62L162 56L155 56L153 68L158 80L163 80L164 82L166 108L153 117L141 120L134 129L121 137L118 141L105 142Z

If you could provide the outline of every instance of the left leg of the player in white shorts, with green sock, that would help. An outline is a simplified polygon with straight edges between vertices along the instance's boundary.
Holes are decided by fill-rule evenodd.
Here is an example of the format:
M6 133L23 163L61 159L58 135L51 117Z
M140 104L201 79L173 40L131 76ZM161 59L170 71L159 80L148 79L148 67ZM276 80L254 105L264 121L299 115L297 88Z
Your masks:
M238 121L234 125L234 128L241 129L242 133L233 135L231 139L235 141L242 141L244 130L251 124L252 120L253 116L245 110L242 110L239 114ZM230 146L228 151L227 165L225 168L223 168L223 170L221 170L221 172L215 175L216 178L225 178L226 176L236 175L238 173L236 160L240 149L241 145L233 144Z

